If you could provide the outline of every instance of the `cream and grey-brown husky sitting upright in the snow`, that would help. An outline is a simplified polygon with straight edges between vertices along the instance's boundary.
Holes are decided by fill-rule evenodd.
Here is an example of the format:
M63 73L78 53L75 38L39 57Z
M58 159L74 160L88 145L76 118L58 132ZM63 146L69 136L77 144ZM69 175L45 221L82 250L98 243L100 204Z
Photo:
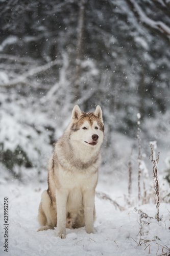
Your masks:
M84 113L75 105L48 162L48 189L41 196L38 231L57 226L60 238L66 237L66 228L85 226L87 233L93 232L103 138L101 107L96 106L94 113Z

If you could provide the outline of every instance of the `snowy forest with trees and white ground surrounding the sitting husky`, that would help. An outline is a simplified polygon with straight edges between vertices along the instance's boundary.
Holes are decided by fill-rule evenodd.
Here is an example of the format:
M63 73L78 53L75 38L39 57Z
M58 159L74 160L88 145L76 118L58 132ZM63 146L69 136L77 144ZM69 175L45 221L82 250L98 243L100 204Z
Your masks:
M170 255L170 1L0 0L0 14L1 255ZM61 240L36 232L38 205L76 104L103 111L96 232Z

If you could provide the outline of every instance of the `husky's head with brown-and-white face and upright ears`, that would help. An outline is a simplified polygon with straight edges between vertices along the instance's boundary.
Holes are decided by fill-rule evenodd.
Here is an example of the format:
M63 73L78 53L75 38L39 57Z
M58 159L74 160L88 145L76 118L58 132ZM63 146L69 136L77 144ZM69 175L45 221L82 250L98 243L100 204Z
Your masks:
M104 138L102 110L98 105L95 112L81 112L75 105L71 116L71 138L90 147L100 147Z

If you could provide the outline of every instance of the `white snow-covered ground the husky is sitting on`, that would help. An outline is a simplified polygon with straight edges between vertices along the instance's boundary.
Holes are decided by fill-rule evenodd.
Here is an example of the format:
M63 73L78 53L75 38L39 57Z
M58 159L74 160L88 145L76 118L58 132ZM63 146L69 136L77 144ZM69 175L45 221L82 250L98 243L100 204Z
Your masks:
M100 175L96 191L106 193L125 209L119 210L111 201L96 197L95 233L87 234L84 227L67 229L66 239L63 240L56 237L56 230L37 232L38 206L47 183L33 181L29 185L22 185L17 181L9 183L1 180L1 205L4 205L5 197L9 198L9 228L8 252L5 252L4 209L1 207L0 255L163 255L163 252L167 252L166 246L170 247L169 204L160 203L162 220L158 223L155 220L155 204L139 206L134 203L128 206L124 199L127 194L126 177L122 180L114 180L113 174L111 178L108 177ZM134 199L137 197L135 194L137 192L134 191ZM140 218L142 213L139 210L148 218Z

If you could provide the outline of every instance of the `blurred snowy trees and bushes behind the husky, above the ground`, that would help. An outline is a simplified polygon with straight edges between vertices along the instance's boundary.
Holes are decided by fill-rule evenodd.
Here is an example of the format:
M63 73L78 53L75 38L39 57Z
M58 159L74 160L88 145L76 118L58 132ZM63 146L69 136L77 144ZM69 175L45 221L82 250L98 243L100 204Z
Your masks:
M138 131L142 160L157 141L169 181L169 9L169 0L0 0L1 178L46 182L74 105L99 104L101 173L124 176L130 155L137 166Z

